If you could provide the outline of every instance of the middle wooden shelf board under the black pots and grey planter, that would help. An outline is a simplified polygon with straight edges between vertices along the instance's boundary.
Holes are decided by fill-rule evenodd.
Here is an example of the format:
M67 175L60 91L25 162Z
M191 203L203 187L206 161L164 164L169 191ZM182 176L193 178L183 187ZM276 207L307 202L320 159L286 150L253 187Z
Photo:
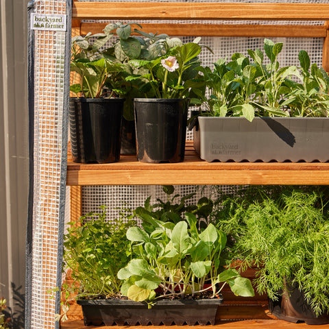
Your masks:
M329 163L206 162L186 142L184 162L149 164L121 156L110 164L68 161L67 185L257 184L328 185Z

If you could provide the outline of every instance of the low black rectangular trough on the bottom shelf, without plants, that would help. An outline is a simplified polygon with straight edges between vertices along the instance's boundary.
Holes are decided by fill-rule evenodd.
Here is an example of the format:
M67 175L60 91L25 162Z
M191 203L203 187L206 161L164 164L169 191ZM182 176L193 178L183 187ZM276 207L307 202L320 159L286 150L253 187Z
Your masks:
M85 326L182 326L215 324L223 297L204 300L160 300L151 308L132 300L77 300Z

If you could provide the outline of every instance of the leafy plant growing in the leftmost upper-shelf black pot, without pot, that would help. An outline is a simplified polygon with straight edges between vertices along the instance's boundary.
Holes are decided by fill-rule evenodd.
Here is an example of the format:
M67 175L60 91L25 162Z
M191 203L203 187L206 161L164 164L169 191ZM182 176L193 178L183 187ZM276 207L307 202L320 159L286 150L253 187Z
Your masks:
M130 66L116 58L114 47L106 48L106 44L117 32L123 38L119 38L117 45L121 51L123 48L128 55L133 56L133 41L127 36L127 29L131 30L132 24L111 23L103 33L73 37L71 71L80 76L80 82L70 87L73 93L86 98L109 98L123 97L128 92L130 86L125 83L124 77L131 73Z

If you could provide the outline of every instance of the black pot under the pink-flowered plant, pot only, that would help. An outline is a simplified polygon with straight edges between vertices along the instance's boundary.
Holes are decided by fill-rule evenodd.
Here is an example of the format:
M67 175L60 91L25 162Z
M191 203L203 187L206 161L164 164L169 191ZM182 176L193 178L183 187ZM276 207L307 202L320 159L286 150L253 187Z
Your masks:
M189 99L134 99L137 159L182 162Z

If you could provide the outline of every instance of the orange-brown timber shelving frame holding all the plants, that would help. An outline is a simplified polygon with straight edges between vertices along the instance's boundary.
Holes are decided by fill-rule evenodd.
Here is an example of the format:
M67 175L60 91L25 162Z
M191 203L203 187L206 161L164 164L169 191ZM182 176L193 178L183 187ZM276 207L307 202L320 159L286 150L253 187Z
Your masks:
M88 20L145 20L143 31L164 31L170 36L225 37L293 37L324 38L322 66L329 71L329 3L216 3L216 2L88 2L73 1L73 36L99 33L106 23ZM154 21L157 22L154 22ZM223 24L221 21L239 21ZM260 25L250 21L319 21L315 25ZM160 23L159 23L160 21ZM169 21L170 23L167 23ZM184 21L183 23L178 21ZM204 24L201 21L211 21ZM248 22L245 22L248 21ZM233 23L233 24L232 24ZM85 185L143 185L143 184L280 184L328 185L329 162L205 162L195 153L191 141L186 143L184 162L147 164L136 156L121 156L112 164L78 164L68 160L66 184L71 186L71 221L82 214L82 186ZM291 324L271 319L267 300L256 297L251 301L228 298L216 328L307 328L315 326ZM62 329L108 328L84 327L81 310L69 315L72 321L61 324ZM241 321L242 320L242 321ZM202 329L204 326L194 326ZM137 328L137 327L136 327ZM139 327L138 328L145 328ZM147 327L162 329L161 327ZM173 328L173 327L171 327ZM186 326L175 326L186 329ZM319 326L316 326L319 328ZM329 329L329 325L321 329Z

